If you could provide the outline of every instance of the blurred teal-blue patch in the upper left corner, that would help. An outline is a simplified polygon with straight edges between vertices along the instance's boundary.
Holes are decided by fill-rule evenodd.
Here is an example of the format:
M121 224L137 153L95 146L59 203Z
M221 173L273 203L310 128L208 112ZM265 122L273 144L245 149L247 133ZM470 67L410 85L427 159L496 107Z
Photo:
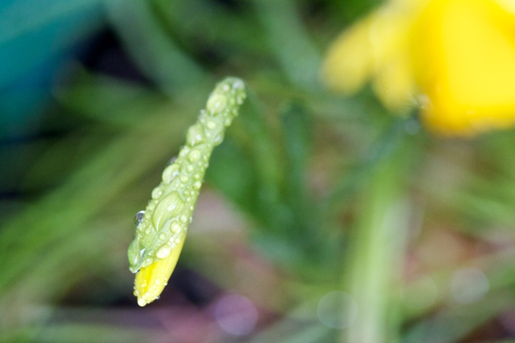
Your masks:
M99 0L0 2L0 139L37 132L54 75L103 22Z

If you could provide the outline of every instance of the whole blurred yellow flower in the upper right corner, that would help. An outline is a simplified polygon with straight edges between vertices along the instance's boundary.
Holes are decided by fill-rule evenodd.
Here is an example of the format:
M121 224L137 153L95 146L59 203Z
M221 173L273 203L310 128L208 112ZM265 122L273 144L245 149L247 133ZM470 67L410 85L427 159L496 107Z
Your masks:
M440 133L515 124L515 1L390 0L345 31L324 64L330 88L369 79L388 108L418 102Z

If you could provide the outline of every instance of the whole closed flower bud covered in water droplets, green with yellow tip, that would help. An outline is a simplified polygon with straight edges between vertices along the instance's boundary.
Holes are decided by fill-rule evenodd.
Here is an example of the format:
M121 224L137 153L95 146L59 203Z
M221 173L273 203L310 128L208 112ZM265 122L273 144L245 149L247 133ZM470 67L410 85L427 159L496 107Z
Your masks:
M136 216L128 257L130 270L139 272L134 295L141 306L160 295L177 264L211 153L224 139L245 96L241 79L229 77L216 86L206 109L188 129L186 144L163 171L161 184L152 190L145 211Z

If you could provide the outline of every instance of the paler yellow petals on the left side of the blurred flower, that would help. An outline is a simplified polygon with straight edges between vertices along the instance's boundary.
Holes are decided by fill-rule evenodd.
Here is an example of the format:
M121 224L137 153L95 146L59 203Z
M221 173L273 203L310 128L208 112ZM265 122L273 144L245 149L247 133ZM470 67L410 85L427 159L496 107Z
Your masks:
M352 94L373 78L385 106L405 109L415 88L408 54L414 11L413 4L398 2L345 31L325 60L323 75L328 86Z

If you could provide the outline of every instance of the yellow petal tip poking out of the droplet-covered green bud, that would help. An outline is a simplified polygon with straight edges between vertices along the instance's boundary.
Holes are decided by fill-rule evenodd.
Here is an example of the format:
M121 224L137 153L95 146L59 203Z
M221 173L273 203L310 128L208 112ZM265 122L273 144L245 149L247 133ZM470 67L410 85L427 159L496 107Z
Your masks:
M158 259L148 267L141 268L136 274L134 295L138 297L138 305L145 306L159 297L177 265L185 238L186 235L182 235L181 242L171 250L167 257Z

